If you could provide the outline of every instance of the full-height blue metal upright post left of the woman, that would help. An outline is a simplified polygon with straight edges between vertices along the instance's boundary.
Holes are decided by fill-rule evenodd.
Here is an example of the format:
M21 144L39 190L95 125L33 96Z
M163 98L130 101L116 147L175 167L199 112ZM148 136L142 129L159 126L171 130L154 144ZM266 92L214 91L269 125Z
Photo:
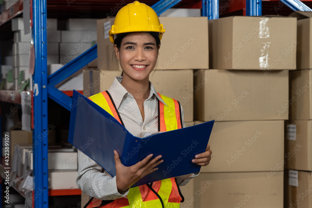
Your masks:
M34 207L48 208L48 89L46 0L33 0L33 39L35 72L32 76L34 96L33 174Z

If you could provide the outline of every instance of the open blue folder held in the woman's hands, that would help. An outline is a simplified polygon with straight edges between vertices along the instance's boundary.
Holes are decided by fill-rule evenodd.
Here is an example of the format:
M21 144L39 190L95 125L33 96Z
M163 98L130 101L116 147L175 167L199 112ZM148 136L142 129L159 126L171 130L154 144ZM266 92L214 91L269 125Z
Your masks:
M124 166L131 166L149 154L162 155L158 170L133 186L199 172L192 162L206 151L214 120L187 128L139 138L124 128L113 116L76 90L73 92L68 142L91 157L101 167L116 175L114 150Z

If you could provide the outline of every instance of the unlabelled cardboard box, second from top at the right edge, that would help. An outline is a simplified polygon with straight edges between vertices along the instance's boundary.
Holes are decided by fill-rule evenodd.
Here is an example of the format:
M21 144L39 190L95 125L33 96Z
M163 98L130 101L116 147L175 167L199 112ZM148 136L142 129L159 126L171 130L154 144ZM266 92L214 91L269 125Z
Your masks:
M312 119L312 71L290 71L289 85L289 119Z

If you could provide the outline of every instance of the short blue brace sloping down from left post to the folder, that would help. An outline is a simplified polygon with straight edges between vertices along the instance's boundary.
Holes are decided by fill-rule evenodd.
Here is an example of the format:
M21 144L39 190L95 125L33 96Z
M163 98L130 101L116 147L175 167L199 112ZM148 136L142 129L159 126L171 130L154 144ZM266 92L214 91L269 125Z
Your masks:
M53 99L55 102L63 106L65 109L71 111L72 98L51 84L48 85L48 96L49 98Z

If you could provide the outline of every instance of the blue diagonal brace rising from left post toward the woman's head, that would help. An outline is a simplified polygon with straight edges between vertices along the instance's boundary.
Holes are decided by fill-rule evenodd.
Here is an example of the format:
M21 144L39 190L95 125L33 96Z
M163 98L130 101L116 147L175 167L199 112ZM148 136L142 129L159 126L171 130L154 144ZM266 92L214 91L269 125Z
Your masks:
M72 60L71 62L64 65L61 69L57 70L50 76L48 76L48 82L52 86L65 80L67 77L80 70L82 67L90 63L97 57L97 45L92 46L83 54Z

